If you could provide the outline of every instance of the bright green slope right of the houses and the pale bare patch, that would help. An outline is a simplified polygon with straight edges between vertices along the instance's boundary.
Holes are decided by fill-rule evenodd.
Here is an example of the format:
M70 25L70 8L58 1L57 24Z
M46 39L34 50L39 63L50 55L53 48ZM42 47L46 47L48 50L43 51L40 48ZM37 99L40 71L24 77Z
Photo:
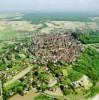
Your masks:
M89 47L81 54L80 58L75 62L74 70L87 75L93 82L93 87L88 91L89 96L99 93L99 52Z

